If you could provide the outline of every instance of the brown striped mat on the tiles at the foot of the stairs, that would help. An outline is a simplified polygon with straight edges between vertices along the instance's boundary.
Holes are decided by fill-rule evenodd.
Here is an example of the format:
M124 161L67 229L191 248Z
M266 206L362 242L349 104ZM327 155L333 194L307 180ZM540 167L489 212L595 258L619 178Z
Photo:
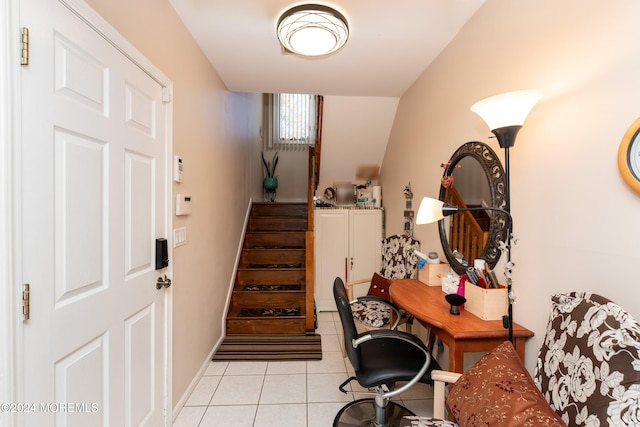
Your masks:
M227 335L213 360L321 360L318 334Z

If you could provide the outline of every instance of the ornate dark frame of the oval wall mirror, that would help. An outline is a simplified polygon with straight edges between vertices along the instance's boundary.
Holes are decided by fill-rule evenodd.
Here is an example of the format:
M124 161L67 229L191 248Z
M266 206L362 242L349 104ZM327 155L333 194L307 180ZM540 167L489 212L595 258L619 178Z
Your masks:
M484 142L471 141L461 145L449 159L449 164L444 170L444 176L451 176L456 165L465 157L472 157L480 163L489 184L491 194L491 206L505 209L506 207L506 181L504 168L495 151ZM454 181L455 183L455 181ZM440 185L439 199L445 201L447 189ZM501 212L493 212L489 224L489 237L482 250L481 258L486 261L491 269L495 267L502 255L500 243L506 241L508 219ZM473 260L467 260L469 266L465 266L453 256L453 251L447 239L445 219L438 221L440 243L449 265L459 275L465 274L467 267L473 266Z

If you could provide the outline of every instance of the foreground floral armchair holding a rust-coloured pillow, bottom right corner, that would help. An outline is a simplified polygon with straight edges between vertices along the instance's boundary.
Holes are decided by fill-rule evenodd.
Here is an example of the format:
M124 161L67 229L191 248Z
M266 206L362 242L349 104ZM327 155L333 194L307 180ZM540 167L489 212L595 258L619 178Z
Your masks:
M436 383L441 419L401 426L640 426L640 324L599 295L557 294L533 377L508 341L461 376L432 377L454 383L446 400Z

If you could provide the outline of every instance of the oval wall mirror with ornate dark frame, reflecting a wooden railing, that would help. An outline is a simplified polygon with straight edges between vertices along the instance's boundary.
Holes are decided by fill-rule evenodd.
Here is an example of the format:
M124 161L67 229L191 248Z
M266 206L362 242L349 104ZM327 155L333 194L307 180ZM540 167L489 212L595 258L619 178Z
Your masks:
M504 209L504 168L496 153L483 142L460 146L445 166L439 199L457 207L487 206ZM508 219L495 211L466 211L438 221L440 242L449 265L464 274L473 260L482 258L490 268L500 259Z

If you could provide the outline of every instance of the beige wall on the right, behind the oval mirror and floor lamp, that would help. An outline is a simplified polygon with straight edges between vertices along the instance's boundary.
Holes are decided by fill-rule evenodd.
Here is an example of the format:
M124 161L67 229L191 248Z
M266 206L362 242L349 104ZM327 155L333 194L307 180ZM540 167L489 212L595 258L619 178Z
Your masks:
M501 153L470 105L544 93L510 151L514 313L536 333L530 369L555 292L597 292L640 318L640 195L616 165L640 116L638 16L637 0L488 0L400 101L381 176L387 234L402 231L404 206L390 189L411 181L417 210L438 196L440 163L458 146L479 140ZM442 255L436 224L416 237Z

